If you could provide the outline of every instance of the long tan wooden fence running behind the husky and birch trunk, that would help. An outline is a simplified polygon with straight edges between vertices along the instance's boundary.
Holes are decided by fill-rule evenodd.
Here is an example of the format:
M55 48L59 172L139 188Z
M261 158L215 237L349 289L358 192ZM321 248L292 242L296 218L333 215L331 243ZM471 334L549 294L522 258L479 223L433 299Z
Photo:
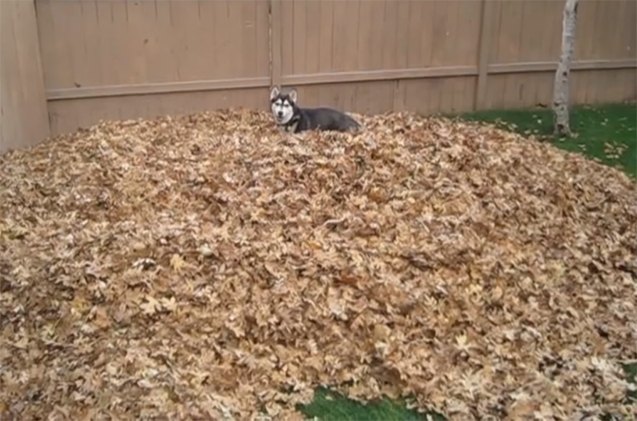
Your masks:
M3 91L36 89L43 74L46 129L60 133L100 119L264 109L272 84L298 87L304 105L364 113L550 104L564 0L0 3L33 9L7 42L41 56L9 69L10 86L3 65ZM636 5L581 0L573 102L636 97ZM23 65L41 70L16 73ZM31 143L24 136L8 144Z

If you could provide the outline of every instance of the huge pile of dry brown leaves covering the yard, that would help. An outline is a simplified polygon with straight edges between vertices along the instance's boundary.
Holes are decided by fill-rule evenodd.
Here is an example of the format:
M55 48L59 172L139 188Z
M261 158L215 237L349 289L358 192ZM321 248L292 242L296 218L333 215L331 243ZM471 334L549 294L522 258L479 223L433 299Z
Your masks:
M634 411L635 182L363 122L220 111L0 158L0 418L289 419L320 384L453 419Z

